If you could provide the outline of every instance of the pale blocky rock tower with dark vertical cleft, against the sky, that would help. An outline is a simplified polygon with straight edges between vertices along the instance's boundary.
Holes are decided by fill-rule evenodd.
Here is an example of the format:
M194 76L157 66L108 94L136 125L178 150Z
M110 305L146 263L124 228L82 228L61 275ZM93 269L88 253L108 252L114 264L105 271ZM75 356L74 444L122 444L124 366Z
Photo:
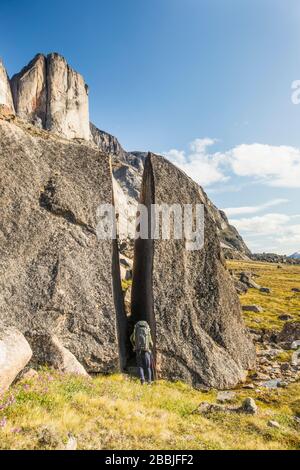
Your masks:
M59 54L38 54L11 87L22 119L67 139L90 139L87 85Z

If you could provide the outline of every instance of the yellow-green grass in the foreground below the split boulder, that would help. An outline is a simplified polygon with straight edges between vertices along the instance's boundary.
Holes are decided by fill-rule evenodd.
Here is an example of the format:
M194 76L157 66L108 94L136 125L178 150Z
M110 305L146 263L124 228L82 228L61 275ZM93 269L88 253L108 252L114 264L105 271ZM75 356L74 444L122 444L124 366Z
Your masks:
M300 385L262 393L237 390L236 404L253 396L256 416L193 413L202 401L216 402L182 383L141 387L122 375L86 379L54 371L13 386L14 402L0 412L0 449L46 449L39 435L46 424L61 441L76 436L79 449L299 449L293 416L300 413ZM7 396L3 397L5 403ZM267 425L273 419L280 429ZM56 447L56 445L54 445Z

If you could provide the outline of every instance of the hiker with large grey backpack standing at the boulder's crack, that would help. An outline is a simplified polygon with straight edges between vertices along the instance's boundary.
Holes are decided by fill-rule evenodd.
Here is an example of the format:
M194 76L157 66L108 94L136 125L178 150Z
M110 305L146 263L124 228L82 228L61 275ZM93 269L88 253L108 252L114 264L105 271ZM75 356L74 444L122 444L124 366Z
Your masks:
M150 326L146 321L138 321L135 326L130 341L133 346L133 350L136 352L136 363L139 371L139 377L141 384L151 384L153 381L153 370L152 370L152 348L153 341L151 337Z

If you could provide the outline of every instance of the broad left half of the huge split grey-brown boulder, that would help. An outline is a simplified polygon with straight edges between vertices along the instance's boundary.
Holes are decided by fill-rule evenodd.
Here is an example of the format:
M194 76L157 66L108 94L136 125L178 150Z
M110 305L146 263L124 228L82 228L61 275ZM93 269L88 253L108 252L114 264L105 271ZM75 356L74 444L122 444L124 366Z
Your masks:
M29 341L50 332L88 372L116 370L126 334L118 255L95 233L97 207L113 198L109 157L24 129L0 119L1 318Z

